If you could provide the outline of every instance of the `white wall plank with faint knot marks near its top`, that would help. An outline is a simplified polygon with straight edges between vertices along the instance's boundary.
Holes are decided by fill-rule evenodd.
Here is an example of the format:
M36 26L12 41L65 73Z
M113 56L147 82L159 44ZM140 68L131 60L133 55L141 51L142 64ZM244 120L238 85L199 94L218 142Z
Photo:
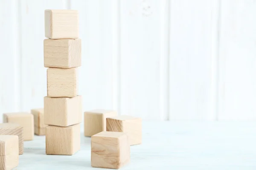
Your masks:
M163 3L161 1L161 3ZM159 1L120 1L121 113L165 119L160 113L161 11Z

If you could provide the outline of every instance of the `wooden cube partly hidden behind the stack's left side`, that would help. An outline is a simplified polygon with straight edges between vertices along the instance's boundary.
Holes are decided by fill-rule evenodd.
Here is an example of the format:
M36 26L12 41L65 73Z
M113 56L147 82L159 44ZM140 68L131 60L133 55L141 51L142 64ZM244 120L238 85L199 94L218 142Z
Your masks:
M34 116L35 134L45 135L45 127L47 125L44 124L44 108L32 109L31 113Z

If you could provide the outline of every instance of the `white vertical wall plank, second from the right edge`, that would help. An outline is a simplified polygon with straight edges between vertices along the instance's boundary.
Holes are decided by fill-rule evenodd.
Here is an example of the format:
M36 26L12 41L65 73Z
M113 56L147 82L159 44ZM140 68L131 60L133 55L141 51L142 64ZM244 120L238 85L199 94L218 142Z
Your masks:
M213 0L172 0L170 14L170 120L214 120Z

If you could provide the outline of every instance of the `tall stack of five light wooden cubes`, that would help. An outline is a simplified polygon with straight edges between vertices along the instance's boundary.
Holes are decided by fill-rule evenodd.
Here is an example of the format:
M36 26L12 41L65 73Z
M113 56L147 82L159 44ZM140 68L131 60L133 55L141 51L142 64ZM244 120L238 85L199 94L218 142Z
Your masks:
M76 10L45 10L44 97L46 154L73 155L80 149L82 98L78 93L81 66L79 14Z

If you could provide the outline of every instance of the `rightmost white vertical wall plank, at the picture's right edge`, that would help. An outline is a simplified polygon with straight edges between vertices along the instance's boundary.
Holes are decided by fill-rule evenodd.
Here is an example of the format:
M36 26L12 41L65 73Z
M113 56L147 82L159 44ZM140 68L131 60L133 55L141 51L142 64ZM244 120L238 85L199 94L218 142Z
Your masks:
M256 1L221 1L219 120L256 120Z

